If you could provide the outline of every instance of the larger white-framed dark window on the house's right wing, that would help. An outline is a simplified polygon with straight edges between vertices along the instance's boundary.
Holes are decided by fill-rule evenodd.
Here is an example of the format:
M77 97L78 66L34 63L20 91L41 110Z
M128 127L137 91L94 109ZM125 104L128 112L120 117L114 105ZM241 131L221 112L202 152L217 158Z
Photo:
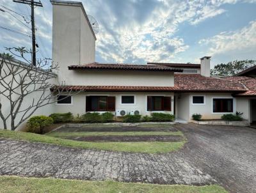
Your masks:
M213 98L213 112L233 112L233 98Z

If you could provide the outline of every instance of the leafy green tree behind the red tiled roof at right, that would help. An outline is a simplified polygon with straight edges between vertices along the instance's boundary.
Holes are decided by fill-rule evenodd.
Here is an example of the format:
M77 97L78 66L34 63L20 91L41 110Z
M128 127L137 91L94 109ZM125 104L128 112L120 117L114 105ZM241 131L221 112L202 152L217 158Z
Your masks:
M247 68L256 65L256 60L241 60L241 61L230 61L228 63L221 63L211 70L211 75L223 75L223 76L232 76Z

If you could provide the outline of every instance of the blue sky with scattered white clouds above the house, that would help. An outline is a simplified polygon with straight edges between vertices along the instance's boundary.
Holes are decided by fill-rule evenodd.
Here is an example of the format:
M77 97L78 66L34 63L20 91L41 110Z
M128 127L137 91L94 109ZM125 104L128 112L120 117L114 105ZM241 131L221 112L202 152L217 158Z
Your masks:
M97 62L200 63L203 56L212 56L214 66L256 59L256 0L81 1L100 26ZM37 57L51 58L52 5L41 2L43 8L35 10ZM6 52L4 47L31 48L26 36L31 24L24 21L29 22L30 7L1 0L0 8L6 11L0 12L0 52Z

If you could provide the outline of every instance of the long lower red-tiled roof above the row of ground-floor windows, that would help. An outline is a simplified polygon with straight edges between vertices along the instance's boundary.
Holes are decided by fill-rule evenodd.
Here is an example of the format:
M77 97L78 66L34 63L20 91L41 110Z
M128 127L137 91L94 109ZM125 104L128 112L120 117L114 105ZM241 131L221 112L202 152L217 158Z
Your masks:
M61 89L63 91L157 91L157 92L214 92L214 93L241 93L248 91L248 88L232 79L219 79L215 77L204 77L199 74L174 75L174 86L57 86L51 88ZM252 85L253 86L253 85Z

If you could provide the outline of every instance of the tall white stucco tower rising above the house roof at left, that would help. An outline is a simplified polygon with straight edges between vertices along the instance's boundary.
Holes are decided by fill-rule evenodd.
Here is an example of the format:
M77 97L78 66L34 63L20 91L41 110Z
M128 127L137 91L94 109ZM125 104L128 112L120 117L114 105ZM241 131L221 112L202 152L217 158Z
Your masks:
M59 82L74 78L68 66L95 62L95 38L81 5L52 5L52 61L60 66Z

